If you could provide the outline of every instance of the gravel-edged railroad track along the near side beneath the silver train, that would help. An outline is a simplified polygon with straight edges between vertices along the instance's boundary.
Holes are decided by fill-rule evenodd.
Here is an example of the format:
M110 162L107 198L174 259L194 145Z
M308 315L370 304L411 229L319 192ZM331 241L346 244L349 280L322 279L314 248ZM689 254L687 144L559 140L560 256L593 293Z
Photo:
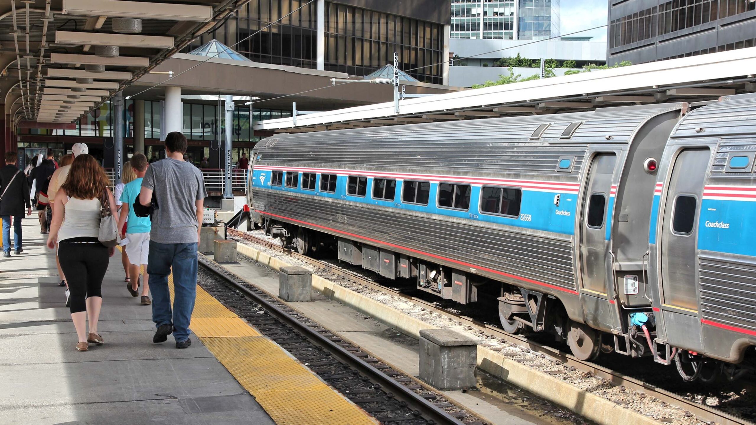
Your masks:
M277 250L296 259L309 262L315 267L322 268L329 273L333 273L334 275L339 275L343 278L357 281L358 284L364 285L365 287L370 287L373 290L379 290L383 293L397 296L409 302L414 302L417 305L423 306L423 308L427 310L436 312L440 315L444 315L448 318L452 318L456 321L461 322L465 326L471 327L474 330L478 330L487 337L496 338L497 340L500 340L502 342L514 344L522 349L530 350L531 352L543 355L550 361L553 361L555 363L561 363L568 367L583 371L587 374L593 374L596 377L601 377L605 380L609 380L612 385L624 386L629 389L634 389L638 392L645 393L647 396L655 397L662 402L666 402L670 405L686 409L691 414L698 417L699 420L702 420L702 422L712 424L717 423L719 425L754 425L754 423L751 423L748 420L720 411L717 408L702 405L701 403L686 399L685 397L680 396L674 392L668 391L667 389L663 389L650 383L643 382L643 380L637 379L635 377L627 376L626 374L622 374L618 371L613 371L612 369L606 368L601 365L596 365L595 363L592 363L590 361L580 360L578 358L575 358L573 355L562 352L561 350L555 349L551 346L545 346L542 343L538 343L537 341L528 339L527 337L506 333L500 328L494 327L491 324L482 323L481 321L477 321L475 318L470 318L465 315L457 314L456 312L451 312L448 309L438 307L432 302L428 302L424 299L409 296L405 293L401 293L398 290L376 284L375 282L367 280L366 278L363 278L359 275L355 275L341 268L336 268L333 265L328 264L327 262L323 262L309 256L302 256L299 253L280 247L276 244L272 244L270 241L261 239L252 234L247 234L243 231L237 231L232 228L228 228L227 231L228 235L231 237L249 240L256 244L261 244L262 246L271 248L272 250Z

